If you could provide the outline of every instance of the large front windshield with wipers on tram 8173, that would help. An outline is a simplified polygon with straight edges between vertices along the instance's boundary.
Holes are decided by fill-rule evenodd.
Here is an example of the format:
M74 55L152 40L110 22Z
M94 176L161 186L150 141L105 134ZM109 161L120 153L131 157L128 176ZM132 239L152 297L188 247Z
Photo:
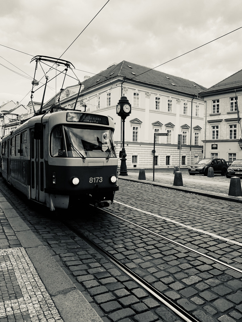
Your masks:
M116 157L109 129L84 129L58 125L51 133L53 157Z

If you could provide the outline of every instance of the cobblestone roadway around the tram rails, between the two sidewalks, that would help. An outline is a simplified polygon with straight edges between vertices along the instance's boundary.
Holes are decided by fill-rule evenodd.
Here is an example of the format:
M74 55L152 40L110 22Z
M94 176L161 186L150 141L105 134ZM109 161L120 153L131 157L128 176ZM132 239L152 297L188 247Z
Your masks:
M107 208L108 211L242 269L241 231L220 224L236 222L242 228L240 204L124 180L120 180L119 185L120 192L116 194L115 203ZM0 189L104 322L179 320L70 232L58 217L31 207L1 183ZM194 204L194 200L198 204ZM153 204L142 201L153 201ZM172 209L161 209L159 205ZM213 208L206 208L206 205ZM196 213L202 220L177 210ZM72 216L72 222L82 232L199 321L235 322L242 319L242 274L96 209L86 211L81 220ZM68 213L68 218L71 215ZM209 219L219 222L211 223ZM3 247L7 250L21 247L18 240L12 239L10 232L9 235L6 233ZM214 238L214 235L222 238Z

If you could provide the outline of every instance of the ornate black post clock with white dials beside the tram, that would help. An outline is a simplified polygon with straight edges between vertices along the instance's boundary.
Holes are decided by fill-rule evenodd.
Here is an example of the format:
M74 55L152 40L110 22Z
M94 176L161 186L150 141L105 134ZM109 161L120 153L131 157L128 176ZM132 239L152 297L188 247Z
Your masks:
M122 156L122 158L120 159L121 165L120 165L119 175L128 175L127 166L126 166L127 155L124 147L124 124L125 124L126 117L129 116L131 113L131 104L129 104L129 101L126 98L126 96L122 96L121 99L118 101L118 104L116 107L116 113L118 116L122 118L122 122L123 122L123 147L122 147L122 151L120 151L119 153L119 157L120 157L120 154Z

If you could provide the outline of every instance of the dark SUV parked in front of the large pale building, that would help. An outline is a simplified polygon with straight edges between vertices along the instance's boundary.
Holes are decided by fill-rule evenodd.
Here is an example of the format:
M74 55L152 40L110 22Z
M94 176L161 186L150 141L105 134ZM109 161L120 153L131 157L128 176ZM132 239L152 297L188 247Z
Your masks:
M207 175L208 168L212 167L214 173L221 173L221 175L226 175L227 173L227 162L220 158L205 158L199 160L192 166L188 167L189 175ZM241 166L242 171L242 166Z

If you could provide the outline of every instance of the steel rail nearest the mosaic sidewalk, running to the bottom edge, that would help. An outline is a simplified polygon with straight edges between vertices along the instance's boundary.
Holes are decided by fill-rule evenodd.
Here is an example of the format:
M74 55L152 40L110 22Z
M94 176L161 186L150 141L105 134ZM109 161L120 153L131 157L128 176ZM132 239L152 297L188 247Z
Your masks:
M102 208L97 209L106 212ZM114 263L120 270L122 270L125 274L127 274L129 277L131 277L133 280L135 280L140 286L142 286L148 293L150 293L152 296L154 296L157 300L159 300L161 303L166 305L168 308L170 308L174 313L176 313L179 317L184 319L186 322L199 322L195 317L190 315L187 311L185 311L183 308L179 307L176 303L172 302L169 298L167 298L164 294L159 292L155 287L150 285L146 280L142 279L140 276L138 276L136 273L134 273L132 270L127 268L124 264L120 263L114 256L110 255L107 251L103 250L100 246L95 244L93 241L91 241L86 235L69 223L66 222L66 220L60 220L68 229L70 229L72 232L74 232L78 237L82 238L85 242L87 242L90 246L95 248L98 252L100 252L103 256L105 256L108 260L110 260L112 263Z

